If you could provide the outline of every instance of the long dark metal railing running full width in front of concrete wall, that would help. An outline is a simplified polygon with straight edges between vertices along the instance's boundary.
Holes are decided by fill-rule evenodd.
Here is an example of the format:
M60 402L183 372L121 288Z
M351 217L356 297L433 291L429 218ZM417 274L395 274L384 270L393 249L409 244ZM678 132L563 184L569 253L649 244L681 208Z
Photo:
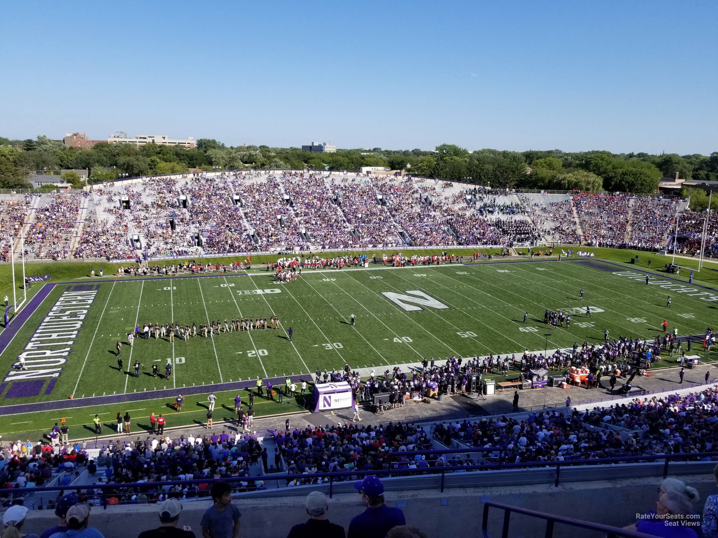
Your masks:
M210 484L214 482L228 482L234 484L237 487L238 483L248 483L247 486L240 486L244 491L266 491L266 488L258 486L257 482L261 481L292 481L294 479L299 480L312 480L314 478L328 478L329 481L314 484L317 486L328 486L330 498L334 494L335 485L341 483L348 483L353 480L360 480L364 476L427 476L434 475L439 476L439 489L444 492L444 482L447 474L454 474L457 471L465 473L467 471L502 471L508 469L531 469L531 468L554 468L554 486L558 487L561 483L561 468L572 467L572 466L587 466L587 465L606 465L608 463L657 463L657 461L663 460L663 478L668 477L668 469L671 461L683 461L687 459L698 459L699 461L705 458L718 458L718 452L703 452L703 453L679 453L679 454L655 454L651 456L620 456L616 458L590 458L590 459L577 459L577 460L564 460L564 461L531 461L531 462L519 462L519 463L507 463L503 458L503 451L497 448L449 448L442 450L407 450L406 452L390 452L388 456L406 458L408 456L441 456L443 454L454 454L454 453L485 453L485 452L498 452L498 462L482 465L469 465L469 466L434 466L427 468L390 468L380 469L374 471L337 471L331 473L310 473L310 474L266 474L262 476L245 476L245 477L233 477L233 478L198 478L195 480L178 480L178 481L162 481L162 482L132 482L132 483L98 483L98 484L87 484L87 485L73 485L69 486L48 486L48 487L35 487L35 488L11 488L11 489L0 489L0 497L11 496L14 498L24 496L25 494L42 494L45 492L56 492L64 490L101 490L101 495L98 499L101 501L101 505L107 508L109 504L110 495L121 494L116 493L119 489L133 489L137 492L165 492L164 486L188 486L190 484L199 486L200 484L206 484L207 489L198 490L192 492L196 498L202 498L208 496L208 490ZM438 459L437 459L438 461ZM409 460L406 462L409 463ZM307 484L309 485L309 484ZM545 515L545 514L544 514Z

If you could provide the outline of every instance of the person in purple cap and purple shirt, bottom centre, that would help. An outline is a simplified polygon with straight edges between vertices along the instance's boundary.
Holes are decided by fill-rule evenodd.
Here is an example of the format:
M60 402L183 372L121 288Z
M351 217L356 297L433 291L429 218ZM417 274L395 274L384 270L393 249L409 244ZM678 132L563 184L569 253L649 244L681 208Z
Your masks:
M386 533L397 525L406 525L401 508L389 508L384 504L384 484L377 476L365 476L354 483L366 510L349 523L347 538L385 538Z

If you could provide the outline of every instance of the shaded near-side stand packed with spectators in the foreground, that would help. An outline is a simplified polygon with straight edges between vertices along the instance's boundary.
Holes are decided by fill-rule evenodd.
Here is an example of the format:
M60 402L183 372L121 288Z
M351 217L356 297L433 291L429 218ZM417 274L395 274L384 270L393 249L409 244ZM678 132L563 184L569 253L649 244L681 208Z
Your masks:
M92 519L105 536L119 535L112 530L118 524L116 518L126 521L123 536L136 536L152 528L147 514L167 509L167 501L174 499L182 504L185 524L192 522L199 530L200 516L212 506L210 499L217 489L225 488L247 514L259 506L274 506L274 510L281 506L281 523L256 514L243 523L245 533L253 529L251 535L274 536L303 521L304 511L295 510L299 501L292 499L300 497L304 506L307 494L307 506L311 498L320 496L328 502L332 497L332 520L351 529L349 519L362 509L355 495L350 497L353 502L347 502L344 494L360 489L381 496L386 491L388 503L404 508L402 519L405 516L407 524L425 532L431 529L436 536L443 534L432 518L450 515L442 525L454 531L456 513L444 515L424 506L416 490L423 490L424 499L433 499L432 491L440 492L455 507L472 499L475 506L481 502L502 508L502 501L513 500L510 504L524 509L538 508L542 519L550 517L547 513L561 512L612 527L635 522L639 531L646 528L640 514L655 506L653 499L664 499L668 506L671 497L664 495L675 494L678 497L673 501L682 503L684 514L694 514L686 516L692 522L681 524L684 534L658 535L697 537L701 532L701 536L714 536L717 529L714 498L705 501L705 509L701 499L701 492L710 491L718 461L714 449L718 390L709 384L625 397L605 405L439 422L426 418L351 423L337 417L332 424L292 426L290 420L281 429L248 430L224 423L210 430L185 428L136 438L117 435L65 445L52 432L49 441L4 443L0 496L4 513L9 514L5 519L27 517L25 530L41 534L57 525L52 514L62 524L65 514L67 519L75 514L69 511L71 506L85 504L93 508ZM671 473L691 486L676 478L666 480ZM707 480L701 481L700 476L706 474ZM602 485L602 481L609 482ZM531 500L525 495L516 497L516 486L529 485ZM610 501L600 501L602 496L591 499L601 493ZM413 500L409 494L414 494ZM581 502L589 502L592 510L576 511L581 495L587 496ZM628 504L620 508L617 499L623 496L627 498L623 504ZM439 499L434 502L439 506ZM671 506L675 509L676 505ZM476 509L471 512L477 514ZM143 516L127 518L129 514ZM496 519L485 516L484 525L500 528L502 520L507 521L501 514ZM531 524L517 520L513 525L520 530L510 536L538 535L533 534ZM578 524L585 529L597 529L596 525ZM609 531L621 535L617 529Z

